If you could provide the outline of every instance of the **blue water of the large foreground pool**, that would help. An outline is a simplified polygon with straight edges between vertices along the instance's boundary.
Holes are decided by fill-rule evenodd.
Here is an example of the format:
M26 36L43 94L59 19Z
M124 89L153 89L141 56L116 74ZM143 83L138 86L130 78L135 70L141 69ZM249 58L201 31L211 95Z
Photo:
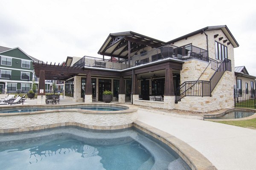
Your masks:
M133 128L79 127L4 134L1 170L190 170L174 151L146 136Z

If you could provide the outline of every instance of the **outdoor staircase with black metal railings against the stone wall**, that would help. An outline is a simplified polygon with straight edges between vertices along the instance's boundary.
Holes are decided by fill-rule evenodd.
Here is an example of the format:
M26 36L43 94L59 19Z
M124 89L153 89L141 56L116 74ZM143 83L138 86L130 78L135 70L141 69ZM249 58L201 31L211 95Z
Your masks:
M221 62L210 59L211 68L215 70L209 81L197 80L183 82L175 91L175 103L180 102L185 96L211 96L212 91L220 81L225 71L231 71L231 60L224 59Z

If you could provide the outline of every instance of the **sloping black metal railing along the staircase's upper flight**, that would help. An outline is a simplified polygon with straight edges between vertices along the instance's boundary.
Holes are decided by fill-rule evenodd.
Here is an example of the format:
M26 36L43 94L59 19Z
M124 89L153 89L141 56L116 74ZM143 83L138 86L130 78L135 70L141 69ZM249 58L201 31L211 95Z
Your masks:
M210 78L211 93L220 81L225 71L231 71L231 60L224 59Z

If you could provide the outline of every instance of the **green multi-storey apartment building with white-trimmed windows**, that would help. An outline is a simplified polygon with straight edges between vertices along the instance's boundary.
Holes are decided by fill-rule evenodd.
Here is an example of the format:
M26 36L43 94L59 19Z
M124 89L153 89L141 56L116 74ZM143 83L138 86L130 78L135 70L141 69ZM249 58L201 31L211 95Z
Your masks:
M33 79L38 83L38 78L34 75L34 61L38 62L38 59L29 56L19 47L0 46L0 93L26 93L30 90ZM50 84L46 83L46 89L50 89Z

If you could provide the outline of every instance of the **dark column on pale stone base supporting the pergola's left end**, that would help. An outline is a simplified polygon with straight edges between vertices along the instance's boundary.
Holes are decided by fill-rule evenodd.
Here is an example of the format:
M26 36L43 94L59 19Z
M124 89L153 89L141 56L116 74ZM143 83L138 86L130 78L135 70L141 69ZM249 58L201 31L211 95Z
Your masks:
M45 72L44 70L40 71L40 74L39 74L37 104L39 105L45 104Z

